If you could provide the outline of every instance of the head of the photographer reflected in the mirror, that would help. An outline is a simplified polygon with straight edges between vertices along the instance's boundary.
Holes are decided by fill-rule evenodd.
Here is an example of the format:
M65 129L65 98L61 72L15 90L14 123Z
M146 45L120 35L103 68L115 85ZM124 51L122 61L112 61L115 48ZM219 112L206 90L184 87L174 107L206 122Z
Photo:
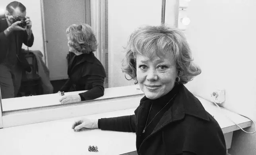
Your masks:
M6 18L10 23L14 23L14 19L24 19L26 16L26 7L20 2L14 1L6 6Z

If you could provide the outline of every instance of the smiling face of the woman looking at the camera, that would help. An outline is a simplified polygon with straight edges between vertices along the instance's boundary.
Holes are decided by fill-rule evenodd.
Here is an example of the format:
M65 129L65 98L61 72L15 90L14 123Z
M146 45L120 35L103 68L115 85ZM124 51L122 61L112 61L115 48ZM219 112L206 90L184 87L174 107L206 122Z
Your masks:
M175 85L176 66L170 57L149 59L137 55L136 70L140 89L151 100L166 95Z

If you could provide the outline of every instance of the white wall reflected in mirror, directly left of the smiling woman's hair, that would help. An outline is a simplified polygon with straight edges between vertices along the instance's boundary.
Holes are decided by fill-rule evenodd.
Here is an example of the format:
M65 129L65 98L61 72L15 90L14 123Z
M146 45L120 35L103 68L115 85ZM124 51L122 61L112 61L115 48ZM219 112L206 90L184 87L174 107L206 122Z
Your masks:
M123 47L139 26L161 25L161 8L161 0L108 0L109 87L134 84L134 80L125 79L121 70Z

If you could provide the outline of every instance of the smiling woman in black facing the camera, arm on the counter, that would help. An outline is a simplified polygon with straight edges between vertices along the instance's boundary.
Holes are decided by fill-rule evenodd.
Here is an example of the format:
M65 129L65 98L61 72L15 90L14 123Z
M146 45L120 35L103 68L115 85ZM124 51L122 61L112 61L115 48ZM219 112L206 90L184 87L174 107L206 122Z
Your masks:
M139 155L225 155L217 121L184 84L201 73L184 35L167 26L145 26L130 36L123 71L145 96L134 115L82 119L72 129L136 132Z

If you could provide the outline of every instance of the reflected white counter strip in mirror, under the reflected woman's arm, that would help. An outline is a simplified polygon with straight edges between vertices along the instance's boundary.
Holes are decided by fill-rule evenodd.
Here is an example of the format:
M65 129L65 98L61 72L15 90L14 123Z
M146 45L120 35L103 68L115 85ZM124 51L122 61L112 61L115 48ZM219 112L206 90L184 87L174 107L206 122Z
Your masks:
M141 95L144 94L141 90L138 90L138 85L106 88L104 96L96 98L95 100L103 100L110 98L118 98L124 96ZM68 92L65 95L76 95L85 91ZM3 111L21 110L44 106L53 106L60 104L59 99L61 96L58 93L37 95L37 96L23 96L17 98L2 99ZM85 101L90 102L90 101Z

